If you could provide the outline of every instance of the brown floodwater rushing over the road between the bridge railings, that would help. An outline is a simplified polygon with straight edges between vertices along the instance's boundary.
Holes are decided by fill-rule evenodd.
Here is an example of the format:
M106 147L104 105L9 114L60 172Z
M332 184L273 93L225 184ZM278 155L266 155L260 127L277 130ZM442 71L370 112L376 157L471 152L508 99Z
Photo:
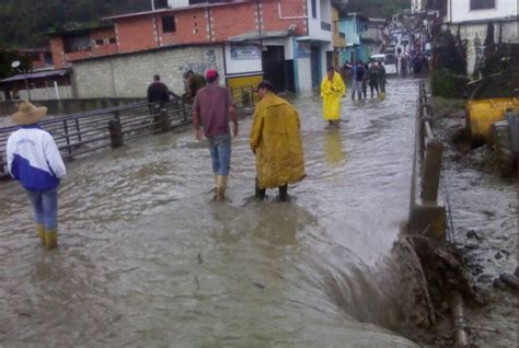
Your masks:
M319 96L291 98L308 177L287 204L276 190L252 199L251 119L223 204L191 131L68 163L57 251L39 245L23 190L1 183L0 344L414 346L387 328L400 315L388 259L408 213L417 81L388 90L344 98L338 130Z

